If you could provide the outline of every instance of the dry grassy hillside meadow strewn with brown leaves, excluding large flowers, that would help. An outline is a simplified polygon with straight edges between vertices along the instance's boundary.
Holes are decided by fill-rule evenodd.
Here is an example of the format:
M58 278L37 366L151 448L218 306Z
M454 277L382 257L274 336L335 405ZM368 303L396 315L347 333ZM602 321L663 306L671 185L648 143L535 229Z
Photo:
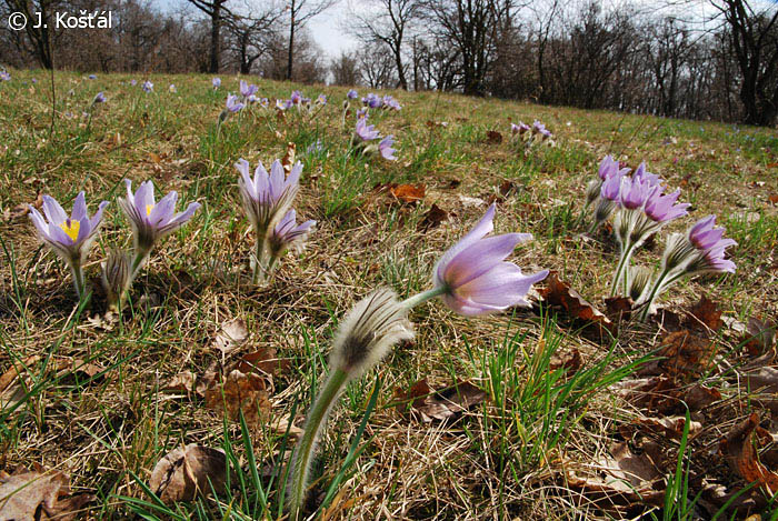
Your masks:
M529 308L415 308L416 337L333 408L305 513L776 519L775 129L380 91L401 106L368 117L393 136L392 161L352 147L361 102L345 113L348 88L56 72L52 91L48 72L9 72L0 513L282 519L287 463L345 313L378 288L402 299L429 289L440 256L493 203L496 233L533 237L509 260L551 274ZM240 79L269 107L249 103L219 123ZM310 109L275 108L296 89ZM93 103L98 92L104 102ZM511 122L536 120L550 140L512 134ZM680 280L645 322L625 301L607 304L618 244L610 222L589 232L584 211L607 154L631 169L645 161L690 203L634 263L657 267L670 232L716 214L737 241L727 249L736 272ZM267 285L251 281L241 158L251 170L300 161L293 208L316 220ZM158 198L176 190L178 211L201 207L154 247L117 312L100 271L112 248L132 247L117 202L124 179L133 190L151 180ZM27 207L40 210L48 194L69 211L80 191L90 214L109 201L81 301Z

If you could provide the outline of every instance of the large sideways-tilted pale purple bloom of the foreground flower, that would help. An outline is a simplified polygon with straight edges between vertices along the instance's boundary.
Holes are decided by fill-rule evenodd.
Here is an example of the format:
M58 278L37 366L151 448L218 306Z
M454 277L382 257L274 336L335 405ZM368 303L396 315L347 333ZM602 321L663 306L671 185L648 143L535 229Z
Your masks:
M548 275L547 270L525 275L518 265L505 259L529 233L486 237L493 229L495 204L459 242L440 258L432 280L443 291L442 299L453 311L478 315L511 305L529 305L525 297L530 287Z

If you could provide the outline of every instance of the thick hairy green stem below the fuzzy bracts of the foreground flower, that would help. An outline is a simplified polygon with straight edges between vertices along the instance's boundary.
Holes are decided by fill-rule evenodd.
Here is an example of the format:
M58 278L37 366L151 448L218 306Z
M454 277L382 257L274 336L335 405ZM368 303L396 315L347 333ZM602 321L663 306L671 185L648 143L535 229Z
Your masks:
M342 369L336 369L330 372L308 414L302 438L297 444L291 462L291 483L288 498L290 520L300 518L300 511L308 492L308 473L310 472L316 442L321 434L332 405L335 405L348 380L349 375Z

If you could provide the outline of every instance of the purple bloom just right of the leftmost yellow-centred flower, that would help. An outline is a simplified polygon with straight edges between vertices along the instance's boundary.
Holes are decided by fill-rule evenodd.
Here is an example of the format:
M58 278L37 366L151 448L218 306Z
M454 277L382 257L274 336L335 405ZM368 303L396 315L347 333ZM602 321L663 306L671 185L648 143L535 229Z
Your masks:
M158 240L186 224L200 208L199 202L191 202L184 211L176 213L176 191L156 202L154 186L151 181L140 183L134 194L132 181L124 179L124 186L127 197L117 200L132 227L132 239L139 258L144 258Z

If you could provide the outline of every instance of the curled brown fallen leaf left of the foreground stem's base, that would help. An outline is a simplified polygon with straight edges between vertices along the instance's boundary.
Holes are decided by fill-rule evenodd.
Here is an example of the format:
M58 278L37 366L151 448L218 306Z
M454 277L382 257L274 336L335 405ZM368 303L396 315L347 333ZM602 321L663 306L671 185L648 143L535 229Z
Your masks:
M151 471L149 489L164 503L193 501L225 491L227 458L217 449L190 443L168 452Z

